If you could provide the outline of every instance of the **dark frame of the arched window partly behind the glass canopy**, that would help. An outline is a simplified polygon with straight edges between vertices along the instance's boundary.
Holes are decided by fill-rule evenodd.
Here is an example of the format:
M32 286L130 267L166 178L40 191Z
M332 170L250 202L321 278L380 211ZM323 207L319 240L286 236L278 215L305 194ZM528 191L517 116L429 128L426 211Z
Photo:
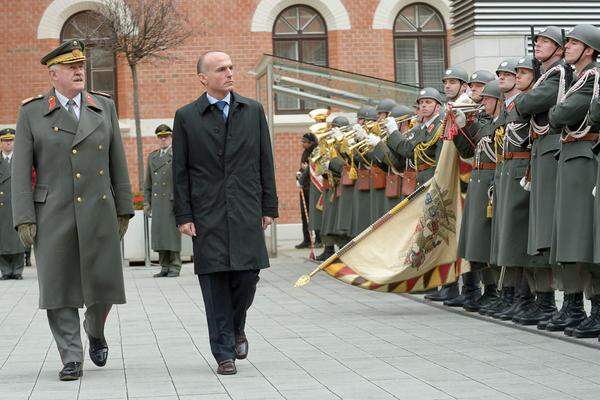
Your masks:
M276 33L275 27L277 26L277 22L279 21L279 19L282 18L283 14L285 12L289 11L290 9L296 9L296 8L306 8L306 9L312 11L315 16L318 16L321 19L321 22L322 22L322 25L324 28L324 33L295 33L295 34ZM273 46L273 55L275 55L275 56L278 56L275 52L276 43L278 43L278 42L296 42L297 48L298 48L298 59L295 61L299 61L299 62L303 62L303 63L307 63L307 64L313 64L313 65L317 65L320 67L329 67L329 30L327 29L327 22L325 21L325 18L323 18L323 15L321 15L321 13L319 11L317 11L316 9L314 9L311 6L308 6L306 4L293 4L289 7L284 8L279 14L277 14L277 17L275 18L275 20L273 22L273 29L271 31L271 39L272 39L272 46ZM303 57L302 48L303 48L303 44L305 42L324 42L324 44L325 44L325 63L324 64L309 63L302 59L302 57ZM286 58L288 58L288 57L286 57ZM275 95L275 96L277 96L277 95ZM277 104L277 99L275 98L275 112L277 114L304 114L307 111L311 110L310 108L306 107L306 102L307 102L306 100L298 99L298 101L299 101L299 108L280 109Z

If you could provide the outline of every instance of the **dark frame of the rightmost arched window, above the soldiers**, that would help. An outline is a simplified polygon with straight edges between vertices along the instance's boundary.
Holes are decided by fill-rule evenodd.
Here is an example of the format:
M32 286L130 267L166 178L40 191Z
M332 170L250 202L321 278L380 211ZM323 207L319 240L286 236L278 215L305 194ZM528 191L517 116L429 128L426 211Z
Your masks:
M442 31L437 31L437 32L426 32L425 31L424 32L421 30L420 27L417 27L416 32L396 31L396 24L398 22L398 18L400 18L400 15L402 15L402 12L404 10L411 8L411 7L426 7L428 9L430 9L431 11L433 11L442 23ZM418 14L417 14L417 21L418 21ZM417 82L417 86L419 86L420 88L422 88L423 84L424 84L423 39L441 39L442 49L444 51L443 67L444 67L444 69L448 68L448 30L446 28L446 22L444 21L444 17L435 7L432 7L431 5L426 4L426 3L411 3L411 4L408 4L404 7L402 7L402 9L400 11L398 11L396 18L394 19L394 25L392 26L392 35L393 35L393 42L394 42L394 80L396 82L406 83L406 82L398 81L398 66L397 66L398 62L397 62L397 58L396 58L396 54L397 54L396 40L397 39L416 39L416 41L417 41L417 69L418 69L417 75L418 75L418 79L419 79L419 81Z

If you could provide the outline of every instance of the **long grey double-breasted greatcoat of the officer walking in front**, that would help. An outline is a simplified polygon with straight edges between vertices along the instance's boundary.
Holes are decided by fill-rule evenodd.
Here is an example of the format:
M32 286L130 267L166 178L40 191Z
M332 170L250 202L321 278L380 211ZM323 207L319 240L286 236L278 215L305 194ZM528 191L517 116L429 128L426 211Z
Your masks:
M133 202L114 102L83 92L79 123L54 90L25 103L12 171L14 225L37 224L40 308L125 303L117 216Z

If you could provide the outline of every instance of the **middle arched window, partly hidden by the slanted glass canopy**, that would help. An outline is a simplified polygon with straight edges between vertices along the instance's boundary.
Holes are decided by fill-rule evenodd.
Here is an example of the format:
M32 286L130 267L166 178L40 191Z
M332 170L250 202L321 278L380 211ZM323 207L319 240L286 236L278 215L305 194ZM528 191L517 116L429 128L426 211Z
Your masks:
M327 26L313 8L295 5L283 10L273 25L273 54L279 57L327 66ZM313 108L311 102L293 96L277 95L278 111L302 111Z

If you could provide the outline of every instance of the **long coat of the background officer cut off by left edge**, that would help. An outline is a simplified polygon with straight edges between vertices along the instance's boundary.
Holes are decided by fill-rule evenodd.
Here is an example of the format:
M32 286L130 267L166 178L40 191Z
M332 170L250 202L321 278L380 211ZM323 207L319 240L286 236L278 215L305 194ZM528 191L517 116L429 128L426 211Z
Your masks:
M10 164L4 160L4 156L0 152L0 255L25 252L13 224L10 169Z

